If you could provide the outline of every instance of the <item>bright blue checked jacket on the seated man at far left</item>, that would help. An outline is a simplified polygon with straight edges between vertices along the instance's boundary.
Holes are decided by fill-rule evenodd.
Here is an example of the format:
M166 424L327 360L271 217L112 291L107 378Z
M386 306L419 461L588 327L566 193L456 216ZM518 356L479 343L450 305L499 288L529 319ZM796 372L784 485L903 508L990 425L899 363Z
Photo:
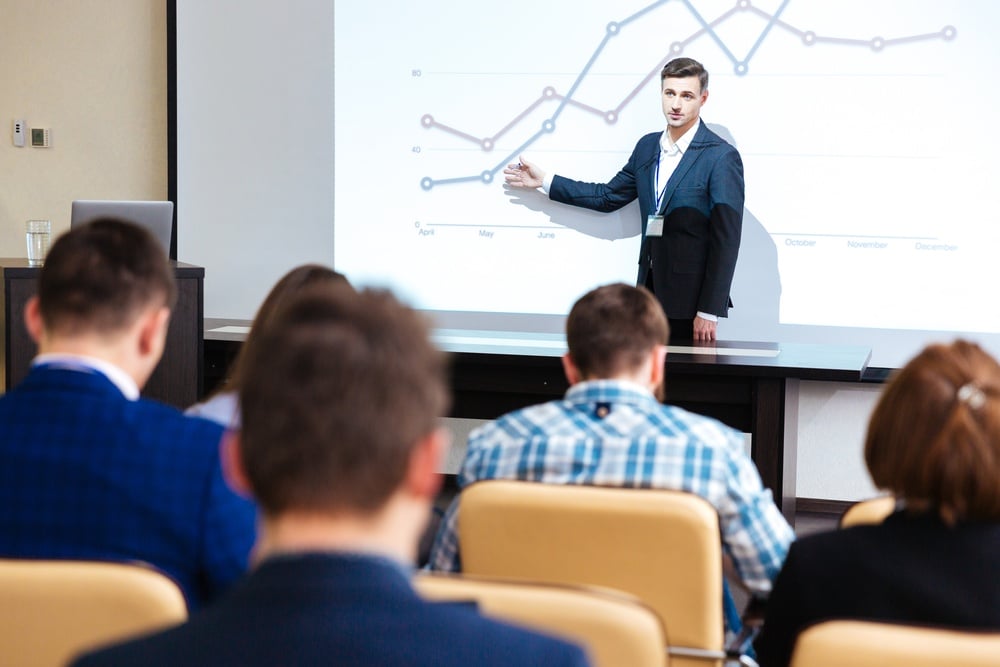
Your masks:
M145 561L197 607L246 571L256 533L221 436L96 371L33 368L0 397L0 557Z

